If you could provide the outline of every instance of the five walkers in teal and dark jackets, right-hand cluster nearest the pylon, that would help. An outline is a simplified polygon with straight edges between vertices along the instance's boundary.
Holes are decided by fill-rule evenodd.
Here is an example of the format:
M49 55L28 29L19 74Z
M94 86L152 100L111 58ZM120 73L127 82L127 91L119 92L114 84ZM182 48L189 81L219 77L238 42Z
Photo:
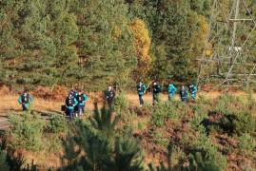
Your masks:
M189 88L187 89L187 87L185 85L182 85L181 90L180 90L180 98L182 102L188 102L188 96L190 93L190 97L191 99L194 101L196 99L196 93L198 91L198 88L196 85L189 85ZM139 95L139 103L140 106L142 106L144 104L144 100L143 100L143 96L144 94L147 92L147 86L145 84L143 84L142 82L140 82L137 85L137 92ZM188 93L189 91L189 93ZM159 85L157 82L153 83L152 86L152 104L157 104L159 102L159 94L162 92L162 86ZM168 94L168 100L171 101L174 97L175 94L177 92L177 88L174 84L169 83L167 86L167 94Z

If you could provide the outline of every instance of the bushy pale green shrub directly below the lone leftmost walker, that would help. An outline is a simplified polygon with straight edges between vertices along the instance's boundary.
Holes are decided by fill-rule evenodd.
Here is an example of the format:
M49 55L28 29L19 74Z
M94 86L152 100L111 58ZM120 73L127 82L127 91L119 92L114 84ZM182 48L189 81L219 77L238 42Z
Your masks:
M43 146L43 130L46 122L37 115L24 113L21 116L10 115L10 145L15 148L24 148L39 151Z

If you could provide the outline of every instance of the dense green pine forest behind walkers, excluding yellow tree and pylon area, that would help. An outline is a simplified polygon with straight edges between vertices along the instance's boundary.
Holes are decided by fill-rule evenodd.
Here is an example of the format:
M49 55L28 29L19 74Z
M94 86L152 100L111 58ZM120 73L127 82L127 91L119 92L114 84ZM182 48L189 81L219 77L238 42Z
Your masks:
M202 40L194 37L200 17L208 16L209 4L209 0L2 0L0 82L79 84L89 90L108 84L130 86L138 77L130 73L140 70L129 28L134 18L148 24L153 45L146 78L188 80L196 73L193 59L202 53L202 46L197 46Z

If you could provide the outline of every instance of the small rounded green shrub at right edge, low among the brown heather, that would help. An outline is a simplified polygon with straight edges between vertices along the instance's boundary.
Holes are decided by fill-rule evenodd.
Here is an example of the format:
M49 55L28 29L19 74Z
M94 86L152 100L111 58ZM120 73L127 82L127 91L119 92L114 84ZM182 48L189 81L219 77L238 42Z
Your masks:
M256 142L249 134L244 133L239 137L239 148L247 151L252 151L256 147Z

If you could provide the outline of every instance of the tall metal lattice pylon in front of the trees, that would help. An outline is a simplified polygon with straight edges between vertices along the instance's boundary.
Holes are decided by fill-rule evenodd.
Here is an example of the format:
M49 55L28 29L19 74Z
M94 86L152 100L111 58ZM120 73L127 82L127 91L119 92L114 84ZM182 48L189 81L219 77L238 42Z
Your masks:
M223 2L228 2L226 7ZM255 35L256 20L246 0L213 0L198 84L241 86L256 82Z

